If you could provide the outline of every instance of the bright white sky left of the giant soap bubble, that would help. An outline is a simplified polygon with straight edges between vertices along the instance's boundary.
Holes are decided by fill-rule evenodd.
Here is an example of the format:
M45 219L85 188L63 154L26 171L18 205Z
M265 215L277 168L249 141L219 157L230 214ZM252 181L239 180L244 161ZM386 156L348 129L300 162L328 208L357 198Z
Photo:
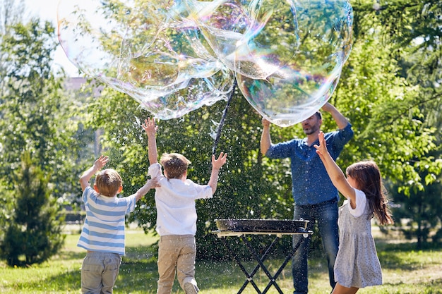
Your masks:
M54 27L56 27L56 9L58 4L59 0L25 0L26 12L29 13L30 16L38 16L42 20L50 20L54 24ZM78 69L66 57L61 45L59 45L55 51L54 63L56 66L64 68L68 76L79 75Z

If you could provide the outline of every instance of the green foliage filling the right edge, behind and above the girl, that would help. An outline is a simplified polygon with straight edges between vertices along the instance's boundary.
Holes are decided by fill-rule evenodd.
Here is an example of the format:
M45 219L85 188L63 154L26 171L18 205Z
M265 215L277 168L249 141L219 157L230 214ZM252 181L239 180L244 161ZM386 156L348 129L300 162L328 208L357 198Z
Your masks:
M397 226L421 246L441 226L433 207L441 201L442 5L379 2L376 10L372 1L352 4L356 39L337 97L348 99L357 130L347 154L378 163L400 207Z

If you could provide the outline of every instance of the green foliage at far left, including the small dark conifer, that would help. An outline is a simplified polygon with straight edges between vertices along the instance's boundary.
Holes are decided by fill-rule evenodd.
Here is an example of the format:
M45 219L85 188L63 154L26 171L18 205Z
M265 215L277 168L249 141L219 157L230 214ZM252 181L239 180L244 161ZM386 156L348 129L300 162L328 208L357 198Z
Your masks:
M75 149L76 125L61 92L63 75L51 69L54 27L33 19L7 32L0 44L2 256L11 265L41 263L62 244L56 199L73 192L68 150Z

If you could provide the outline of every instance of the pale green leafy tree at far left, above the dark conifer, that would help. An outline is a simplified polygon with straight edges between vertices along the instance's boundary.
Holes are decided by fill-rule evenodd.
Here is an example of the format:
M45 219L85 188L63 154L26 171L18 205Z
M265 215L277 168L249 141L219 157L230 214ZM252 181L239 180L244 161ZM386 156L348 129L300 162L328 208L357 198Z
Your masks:
M0 178L5 178L6 190L12 189L12 171L20 164L20 154L32 154L35 164L52 175L58 196L71 192L72 159L68 149L75 146L71 134L71 105L61 92L63 78L51 70L56 48L54 27L49 22L31 20L27 25L13 25L10 35L1 43L4 65L8 71L0 100Z

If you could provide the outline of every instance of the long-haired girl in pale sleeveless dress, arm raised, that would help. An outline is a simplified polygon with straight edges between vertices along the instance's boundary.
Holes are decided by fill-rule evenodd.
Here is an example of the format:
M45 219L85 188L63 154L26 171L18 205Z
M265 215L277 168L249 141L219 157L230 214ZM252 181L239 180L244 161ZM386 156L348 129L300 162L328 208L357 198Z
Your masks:
M382 284L371 218L381 225L392 224L381 172L374 161L360 161L347 168L347 178L328 153L324 134L319 133L319 145L314 145L330 180L347 198L339 208L340 245L335 261L336 286L332 294L354 294L359 288Z

